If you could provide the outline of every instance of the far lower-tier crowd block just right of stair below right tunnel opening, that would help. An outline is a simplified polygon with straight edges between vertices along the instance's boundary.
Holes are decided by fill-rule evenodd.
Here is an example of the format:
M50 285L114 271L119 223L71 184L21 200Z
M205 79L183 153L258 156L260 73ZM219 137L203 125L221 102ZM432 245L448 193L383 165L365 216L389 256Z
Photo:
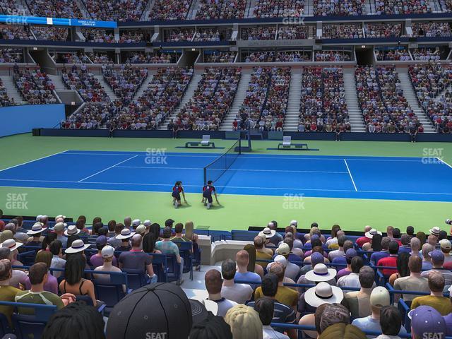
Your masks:
M403 96L394 66L358 66L358 103L371 133L422 133L424 128Z

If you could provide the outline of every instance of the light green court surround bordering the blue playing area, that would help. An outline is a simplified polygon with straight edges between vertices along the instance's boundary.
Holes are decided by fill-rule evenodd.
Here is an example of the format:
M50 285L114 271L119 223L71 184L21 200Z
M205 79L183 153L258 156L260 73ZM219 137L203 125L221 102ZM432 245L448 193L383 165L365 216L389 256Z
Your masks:
M146 152L157 148L165 152L222 153L234 141L215 140L224 150L185 150L176 148L186 139L157 138L64 138L33 137L30 134L0 138L0 169L46 157L64 150L116 150ZM319 151L267 150L278 141L253 141L253 153L281 155L362 155L384 157L441 157L452 163L450 143L391 143L391 142L333 142L308 141L310 148ZM61 170L71 163L61 163ZM86 163L85 166L90 166ZM409 175L409 173L407 173ZM174 181L179 178L174 178ZM441 185L441 178L438 184ZM296 183L295 183L296 185ZM171 187L168 187L168 192ZM21 194L21 195L18 195ZM432 226L448 229L446 218L452 217L452 203L429 201L391 201L349 198L308 198L287 196L220 195L222 206L206 210L201 194L186 194L190 206L175 209L169 193L143 191L102 191L89 189L36 189L0 186L0 209L5 215L58 215L76 219L86 215L108 220L123 220L125 216L150 219L161 225L167 218L177 222L194 221L195 227L210 230L246 230L249 226L263 226L277 220L280 227L290 220L298 220L301 228L318 222L322 229L339 224L343 230L362 230L371 225L379 230L393 225L405 230L412 225L416 230L428 231ZM24 200L23 203L18 201Z

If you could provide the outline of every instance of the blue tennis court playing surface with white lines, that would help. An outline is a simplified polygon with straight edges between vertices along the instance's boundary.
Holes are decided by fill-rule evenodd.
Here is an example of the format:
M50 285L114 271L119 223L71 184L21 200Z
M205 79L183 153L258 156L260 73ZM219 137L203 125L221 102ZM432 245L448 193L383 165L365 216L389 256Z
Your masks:
M213 153L66 150L0 171L0 186L201 193ZM218 163L220 164L220 163ZM218 165L217 164L217 165ZM222 169L208 169L208 179ZM220 194L452 201L439 158L242 154L215 182Z

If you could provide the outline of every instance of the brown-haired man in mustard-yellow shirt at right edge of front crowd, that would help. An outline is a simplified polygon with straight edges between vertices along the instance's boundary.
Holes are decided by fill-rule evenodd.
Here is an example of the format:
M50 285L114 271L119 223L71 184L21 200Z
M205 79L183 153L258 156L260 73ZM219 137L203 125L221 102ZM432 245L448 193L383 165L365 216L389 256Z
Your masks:
M452 312L451 301L443 296L444 277L441 273L432 270L429 274L430 295L424 295L412 300L411 309L415 309L422 305L430 306L446 316Z

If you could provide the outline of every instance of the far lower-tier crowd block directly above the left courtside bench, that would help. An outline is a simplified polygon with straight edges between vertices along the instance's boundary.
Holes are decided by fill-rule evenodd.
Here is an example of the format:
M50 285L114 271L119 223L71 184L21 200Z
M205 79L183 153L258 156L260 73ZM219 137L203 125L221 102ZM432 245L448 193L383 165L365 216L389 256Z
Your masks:
M218 130L232 105L241 76L240 68L206 69L193 96L177 114L174 124L182 130Z

